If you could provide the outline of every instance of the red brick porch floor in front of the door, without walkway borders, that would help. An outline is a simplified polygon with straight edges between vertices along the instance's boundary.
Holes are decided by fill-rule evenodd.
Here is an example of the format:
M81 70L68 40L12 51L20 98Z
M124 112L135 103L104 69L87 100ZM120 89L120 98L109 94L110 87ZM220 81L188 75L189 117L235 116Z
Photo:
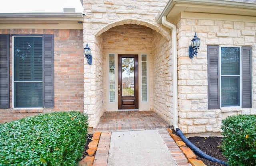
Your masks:
M104 112L95 131L126 131L172 128L154 111Z

